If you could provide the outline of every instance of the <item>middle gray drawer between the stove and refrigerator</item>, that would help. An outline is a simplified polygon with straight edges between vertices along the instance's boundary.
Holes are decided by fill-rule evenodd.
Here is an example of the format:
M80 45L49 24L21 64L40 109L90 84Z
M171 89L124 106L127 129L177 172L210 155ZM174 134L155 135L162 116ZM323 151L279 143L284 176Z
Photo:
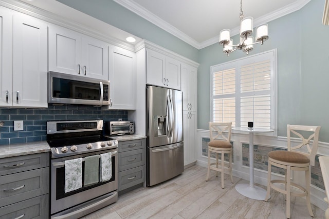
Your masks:
M118 172L145 165L145 149L131 150L118 153Z

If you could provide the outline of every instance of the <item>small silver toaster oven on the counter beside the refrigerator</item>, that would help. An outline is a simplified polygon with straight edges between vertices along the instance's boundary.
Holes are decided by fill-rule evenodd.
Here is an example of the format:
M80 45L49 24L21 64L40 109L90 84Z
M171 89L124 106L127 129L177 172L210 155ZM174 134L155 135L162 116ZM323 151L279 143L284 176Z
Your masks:
M134 134L135 127L133 121L111 121L105 123L105 132L107 135Z

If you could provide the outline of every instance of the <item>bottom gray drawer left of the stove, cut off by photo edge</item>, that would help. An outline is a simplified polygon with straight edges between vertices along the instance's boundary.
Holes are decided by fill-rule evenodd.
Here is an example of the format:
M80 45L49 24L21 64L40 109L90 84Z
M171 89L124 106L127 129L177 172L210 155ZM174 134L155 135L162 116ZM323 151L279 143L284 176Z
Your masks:
M48 194L30 198L23 202L0 208L0 219L7 218L49 218Z

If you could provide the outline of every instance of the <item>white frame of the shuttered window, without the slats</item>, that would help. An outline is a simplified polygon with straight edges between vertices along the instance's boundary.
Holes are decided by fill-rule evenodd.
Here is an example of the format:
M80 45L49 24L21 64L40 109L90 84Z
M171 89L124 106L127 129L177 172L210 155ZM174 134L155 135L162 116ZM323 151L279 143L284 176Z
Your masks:
M258 60L257 60L258 59ZM265 60L270 59L271 65L270 65L270 106L271 106L271 129L274 130L272 133L262 133L262 135L273 135L277 136L278 133L278 52L277 49L268 50L265 52L248 55L246 57L242 57L239 59L234 59L229 62L217 64L210 67L210 116L211 121L213 121L214 115L213 115L213 108L214 108L214 100L217 98L214 98L213 94L213 82L214 82L214 73L218 71L224 71L231 68L235 69L235 93L233 95L231 94L223 94L222 98L225 97L235 97L235 126L241 127L241 97L245 95L241 95L241 81L240 81L240 67L251 64L254 62L259 62L259 59ZM217 96L217 95L215 95Z

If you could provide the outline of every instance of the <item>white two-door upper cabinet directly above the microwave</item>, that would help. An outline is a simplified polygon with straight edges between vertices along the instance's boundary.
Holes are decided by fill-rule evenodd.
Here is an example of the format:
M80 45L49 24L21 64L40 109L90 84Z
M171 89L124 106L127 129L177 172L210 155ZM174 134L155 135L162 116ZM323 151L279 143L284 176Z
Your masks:
M49 71L107 80L106 42L56 25L48 37Z

